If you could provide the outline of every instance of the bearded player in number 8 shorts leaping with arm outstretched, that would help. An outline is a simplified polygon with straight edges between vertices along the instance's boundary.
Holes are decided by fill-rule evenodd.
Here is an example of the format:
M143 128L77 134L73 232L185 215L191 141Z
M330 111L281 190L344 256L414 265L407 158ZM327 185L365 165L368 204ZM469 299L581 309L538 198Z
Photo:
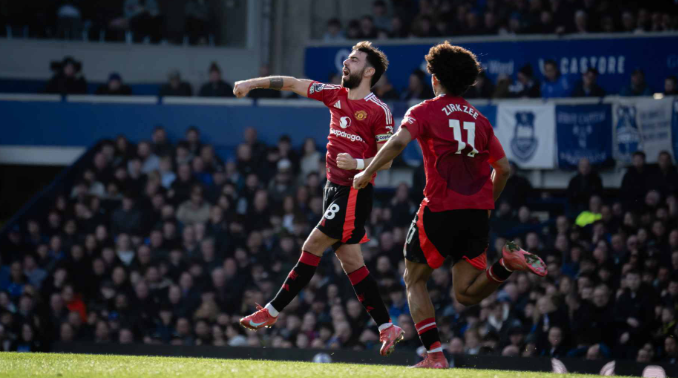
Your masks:
M365 266L360 244L367 242L365 222L372 211L372 182L375 172L391 167L387 162L375 167L363 190L354 189L353 176L370 164L372 158L393 134L393 116L386 104L370 92L388 67L383 52L370 42L360 42L344 61L341 85L321 84L288 76L272 76L235 83L233 93L243 97L255 88L293 91L322 101L330 110L327 138L327 185L322 220L308 236L301 258L287 276L280 291L266 307L240 319L240 324L257 330L270 327L315 274L323 252L333 247L344 272L351 280L358 300L379 326L380 353L388 355L402 340L403 330L391 323L376 280Z

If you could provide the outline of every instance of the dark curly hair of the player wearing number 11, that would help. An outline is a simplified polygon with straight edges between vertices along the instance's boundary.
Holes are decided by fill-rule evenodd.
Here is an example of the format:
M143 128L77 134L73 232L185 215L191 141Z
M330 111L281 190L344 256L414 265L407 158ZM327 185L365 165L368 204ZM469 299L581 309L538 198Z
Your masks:
M426 63L428 72L454 96L461 96L475 84L482 70L474 53L448 41L431 47Z

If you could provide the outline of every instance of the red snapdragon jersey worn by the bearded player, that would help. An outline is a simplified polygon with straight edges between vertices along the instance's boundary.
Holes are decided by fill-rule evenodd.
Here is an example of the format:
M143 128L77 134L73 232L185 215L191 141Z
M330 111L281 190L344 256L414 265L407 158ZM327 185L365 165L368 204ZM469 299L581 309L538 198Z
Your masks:
M330 109L330 135L327 137L327 180L343 186L353 185L357 170L337 167L337 155L347 153L354 159L377 154L377 143L393 135L393 116L388 106L374 93L360 100L349 100L348 89L340 85L313 82L308 98L322 101Z

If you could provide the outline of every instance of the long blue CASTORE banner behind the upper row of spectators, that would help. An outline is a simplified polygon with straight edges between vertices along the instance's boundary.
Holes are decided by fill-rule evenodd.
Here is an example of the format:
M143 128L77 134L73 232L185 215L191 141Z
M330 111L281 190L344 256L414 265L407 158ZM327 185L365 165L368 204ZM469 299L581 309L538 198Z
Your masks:
M452 40L454 43L454 40ZM379 41L375 43L379 46ZM608 94L617 94L629 84L631 72L640 68L653 92L662 92L664 79L678 74L678 53L669 46L678 46L678 37L625 37L600 39L557 39L533 41L469 42L459 45L470 49L479 58L487 75L496 82L506 74L514 78L529 63L538 80L543 81L544 62L553 59L572 87L581 80L582 72L595 67L598 84ZM402 91L416 68L426 71L424 55L431 44L379 46L388 55L391 65L387 74L393 85ZM351 51L346 46L306 48L306 75L327 81L341 71L342 62Z

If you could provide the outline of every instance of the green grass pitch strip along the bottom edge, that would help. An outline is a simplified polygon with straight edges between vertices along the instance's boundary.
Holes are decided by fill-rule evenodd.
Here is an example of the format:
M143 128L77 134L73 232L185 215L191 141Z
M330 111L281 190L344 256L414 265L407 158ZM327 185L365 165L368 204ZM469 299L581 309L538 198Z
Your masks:
M558 377L586 377L558 375ZM0 377L471 377L542 378L550 373L475 370L407 369L400 366L314 364L261 360L207 358L128 357L112 355L0 353Z

